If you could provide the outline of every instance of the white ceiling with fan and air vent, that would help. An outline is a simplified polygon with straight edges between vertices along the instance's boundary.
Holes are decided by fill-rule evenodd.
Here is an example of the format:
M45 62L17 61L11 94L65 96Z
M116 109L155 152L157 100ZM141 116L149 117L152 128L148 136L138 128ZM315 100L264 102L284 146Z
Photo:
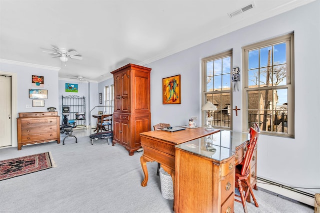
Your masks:
M101 81L313 0L0 0L0 60ZM254 8L230 18L248 4ZM74 49L66 66L43 50Z

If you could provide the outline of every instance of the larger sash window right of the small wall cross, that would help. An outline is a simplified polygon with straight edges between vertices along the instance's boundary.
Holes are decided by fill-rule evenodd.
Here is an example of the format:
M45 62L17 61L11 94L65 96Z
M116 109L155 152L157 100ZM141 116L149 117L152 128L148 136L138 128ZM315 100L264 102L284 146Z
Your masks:
M245 127L293 137L293 33L242 47Z

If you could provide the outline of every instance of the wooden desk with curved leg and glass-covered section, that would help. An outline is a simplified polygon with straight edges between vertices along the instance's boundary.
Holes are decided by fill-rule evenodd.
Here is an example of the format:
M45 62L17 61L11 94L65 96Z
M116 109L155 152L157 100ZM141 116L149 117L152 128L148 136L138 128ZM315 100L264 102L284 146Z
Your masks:
M143 155L140 157L140 163L144 173L144 180L141 186L146 186L148 181L146 162L156 161L160 163L161 167L172 177L174 186L174 211L176 213L185 210L182 209L182 206L186 206L187 208L193 206L193 210L196 211L221 212L223 209L232 212L234 199L234 166L243 158L243 150L245 150L249 136L247 133L221 131L221 133L223 132L221 134L219 131L220 130L217 129L207 131L204 130L204 128L186 128L185 130L177 132L150 131L140 133L141 146L143 147ZM194 152L196 149L189 149L188 146L185 146L187 144L198 143L196 146L201 147L199 143L204 140L205 136L209 135L214 136L213 138L215 138L216 142L214 143L214 147L219 150L212 158L208 157L207 153L203 154L203 152L200 152L200 149L198 149L199 153L196 153ZM217 140L216 137L219 137L219 140ZM218 157L216 155L218 155ZM178 157L178 159L176 159L176 157ZM181 161L181 159L183 159L183 161ZM185 165L183 162L189 162L189 164ZM205 181L203 181L203 185L200 187L194 187L195 185L192 185L192 182L199 182L196 172L201 168L203 172L203 174L201 172L201 178L204 178ZM228 186L229 189L227 193L223 192L222 188L225 187L221 188L222 185ZM194 190L192 191L192 188L196 192ZM204 193L202 193L202 190ZM203 195L205 197L204 200L200 198L199 195ZM199 201L205 202L192 201L195 197L199 197ZM188 203L185 203L185 201L188 201ZM209 206L209 208L206 206Z

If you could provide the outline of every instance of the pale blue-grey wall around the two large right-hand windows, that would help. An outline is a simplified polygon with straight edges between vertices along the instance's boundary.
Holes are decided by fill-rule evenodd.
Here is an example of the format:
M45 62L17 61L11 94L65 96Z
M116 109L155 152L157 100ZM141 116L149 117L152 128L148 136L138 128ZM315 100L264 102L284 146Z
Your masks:
M201 58L232 49L232 64L241 69L242 46L292 31L295 63L295 137L261 135L258 141L257 175L287 186L320 188L320 114L317 110L320 106L320 71L317 68L320 59L319 0L145 65L152 68L152 125L160 122L182 125L186 124L190 116L200 117ZM181 74L181 104L163 105L161 80L176 74ZM235 116L233 111L235 131L243 129L243 97L242 89L233 93L233 108L238 106L241 109L238 116ZM320 190L309 191L320 193Z

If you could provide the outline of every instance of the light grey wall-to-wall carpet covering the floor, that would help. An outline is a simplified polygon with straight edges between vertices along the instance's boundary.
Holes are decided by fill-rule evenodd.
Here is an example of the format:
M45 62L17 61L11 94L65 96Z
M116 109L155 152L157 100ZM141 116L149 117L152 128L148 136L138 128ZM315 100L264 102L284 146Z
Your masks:
M0 160L51 152L56 167L0 181L0 213L173 213L172 200L161 196L157 163L147 163L149 180L141 187L142 152L128 152L106 140L91 145L88 131L74 130L78 138L0 149ZM247 204L249 213L312 213L313 207L254 191L259 208ZM235 213L243 213L234 203Z

